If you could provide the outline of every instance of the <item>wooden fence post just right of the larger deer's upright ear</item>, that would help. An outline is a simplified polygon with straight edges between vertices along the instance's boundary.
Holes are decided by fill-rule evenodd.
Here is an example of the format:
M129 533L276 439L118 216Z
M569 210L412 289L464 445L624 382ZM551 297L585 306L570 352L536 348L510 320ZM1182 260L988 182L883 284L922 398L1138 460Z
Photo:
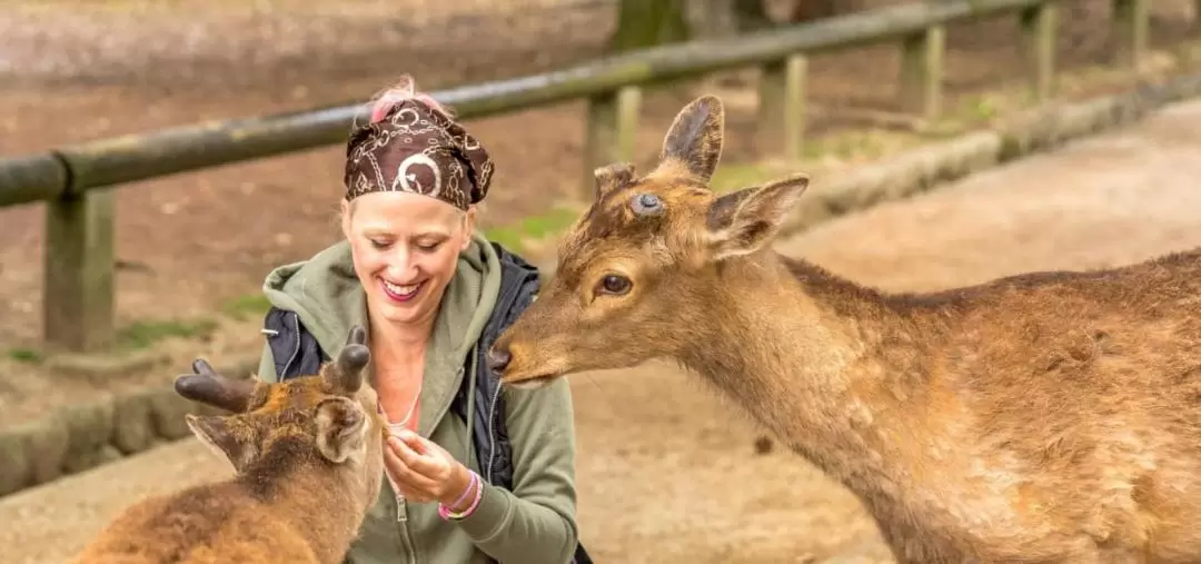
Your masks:
M759 139L781 158L801 159L805 143L805 75L808 60L791 55L763 66L759 76Z

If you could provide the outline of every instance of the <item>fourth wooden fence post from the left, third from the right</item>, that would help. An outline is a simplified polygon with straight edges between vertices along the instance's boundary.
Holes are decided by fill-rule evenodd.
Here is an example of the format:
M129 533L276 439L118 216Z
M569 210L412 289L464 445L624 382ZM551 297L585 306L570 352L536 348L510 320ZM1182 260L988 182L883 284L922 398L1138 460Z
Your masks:
M901 43L901 107L925 119L934 119L943 103L943 48L946 32L942 25L906 37Z

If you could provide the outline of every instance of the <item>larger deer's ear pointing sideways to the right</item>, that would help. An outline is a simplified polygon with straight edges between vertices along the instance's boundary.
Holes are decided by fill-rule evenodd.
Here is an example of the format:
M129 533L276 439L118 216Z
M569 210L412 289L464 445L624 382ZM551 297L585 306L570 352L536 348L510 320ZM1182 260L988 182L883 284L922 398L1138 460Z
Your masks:
M809 185L795 174L763 186L718 197L709 206L706 226L712 261L754 253L770 243Z

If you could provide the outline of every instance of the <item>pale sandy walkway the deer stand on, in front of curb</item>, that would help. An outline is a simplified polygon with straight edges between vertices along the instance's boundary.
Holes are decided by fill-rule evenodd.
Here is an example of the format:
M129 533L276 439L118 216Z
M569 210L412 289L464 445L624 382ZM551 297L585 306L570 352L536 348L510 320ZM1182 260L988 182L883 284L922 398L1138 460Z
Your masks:
M1127 263L1201 245L1199 179L1201 101L779 247L892 290ZM788 453L754 456L743 417L688 384L657 364L573 378L598 562L891 562L847 492ZM64 562L139 495L227 474L187 440L0 499L2 560Z

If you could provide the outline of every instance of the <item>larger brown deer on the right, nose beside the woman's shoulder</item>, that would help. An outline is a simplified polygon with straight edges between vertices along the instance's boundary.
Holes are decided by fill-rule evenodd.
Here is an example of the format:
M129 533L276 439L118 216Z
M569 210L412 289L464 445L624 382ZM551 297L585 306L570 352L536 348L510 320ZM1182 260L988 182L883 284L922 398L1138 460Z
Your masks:
M771 248L808 185L717 195L723 108L598 168L502 381L679 361L855 492L902 563L1201 562L1201 250L886 293ZM886 244L882 242L882 244Z

